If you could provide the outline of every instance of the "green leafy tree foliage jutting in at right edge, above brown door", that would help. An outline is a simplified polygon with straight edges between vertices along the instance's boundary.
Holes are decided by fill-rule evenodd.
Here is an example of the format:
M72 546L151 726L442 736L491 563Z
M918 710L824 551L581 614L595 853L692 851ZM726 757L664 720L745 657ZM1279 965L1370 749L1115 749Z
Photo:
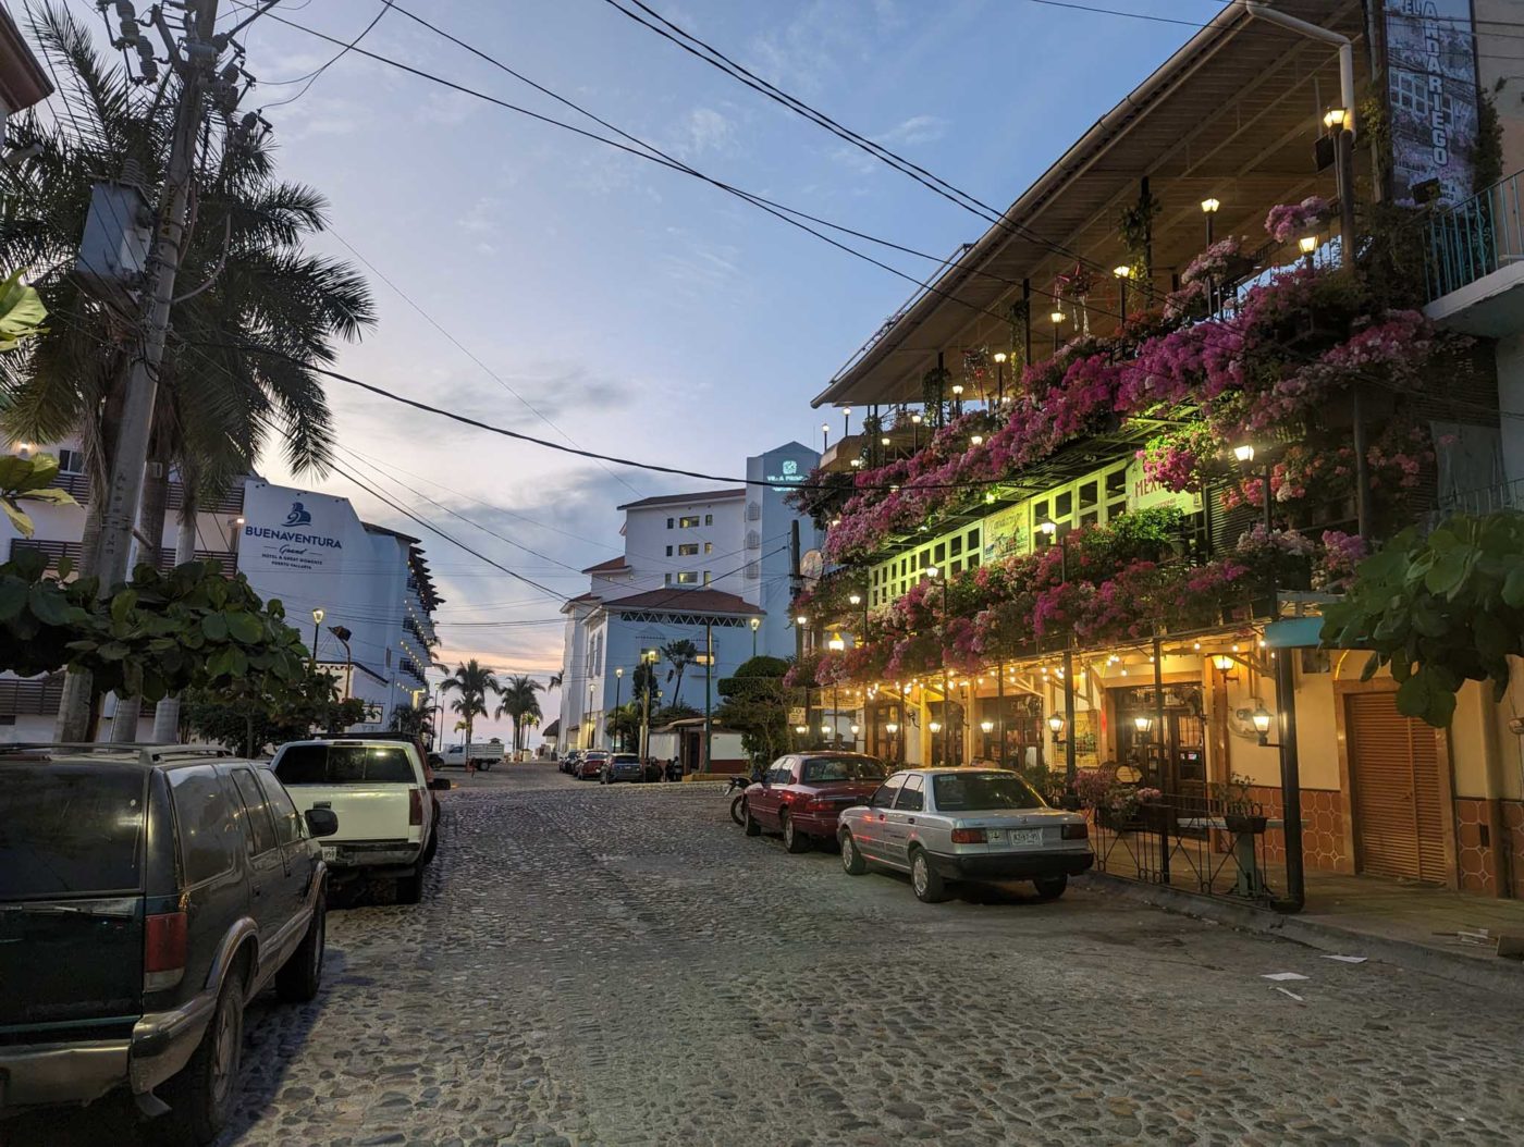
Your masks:
M1448 727L1466 681L1503 698L1524 655L1524 513L1454 515L1428 536L1399 533L1327 606L1323 644L1370 649L1362 679L1387 666L1398 711Z

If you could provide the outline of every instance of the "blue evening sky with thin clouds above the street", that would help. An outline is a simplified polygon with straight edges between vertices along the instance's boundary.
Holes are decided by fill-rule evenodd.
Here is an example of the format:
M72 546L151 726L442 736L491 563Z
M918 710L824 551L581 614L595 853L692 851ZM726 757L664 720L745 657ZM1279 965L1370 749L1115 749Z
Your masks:
M974 215L604 0L407 6L716 178L937 254L983 232ZM1029 0L652 6L1000 207L1190 35L1178 24ZM1210 0L1103 6L1189 20L1218 9ZM87 14L82 0L76 8ZM379 0L308 0L276 11L349 40L379 9ZM273 20L251 27L245 46L248 69L262 81L245 107L294 94L300 85L274 81L302 76L337 50ZM576 119L396 12L363 46ZM312 245L352 257L340 238L351 244L523 401L373 274L379 327L346 347L338 369L526 433L558 437L544 416L588 449L739 475L747 454L789 439L818 443L821 417L809 398L911 291L713 187L354 53L300 99L265 114L282 174L332 203L334 235ZM908 256L888 260L920 276L930 268ZM341 445L393 483L575 568L622 548L616 504L692 484L622 468L611 474L338 384L331 398ZM835 416L831 422L840 425ZM288 477L279 458L268 458L265 472ZM422 533L448 599L439 615L442 660L475 655L518 672L559 666L559 625L535 625L559 620L556 602L416 529L341 477L303 484ZM565 594L587 588L585 577L387 487L504 565Z

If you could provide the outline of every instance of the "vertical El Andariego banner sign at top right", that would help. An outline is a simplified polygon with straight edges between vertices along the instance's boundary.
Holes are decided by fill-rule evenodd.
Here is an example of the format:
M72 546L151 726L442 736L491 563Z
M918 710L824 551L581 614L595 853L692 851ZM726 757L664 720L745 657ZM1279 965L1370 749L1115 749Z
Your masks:
M1387 0L1385 14L1393 193L1469 200L1477 146L1471 0Z

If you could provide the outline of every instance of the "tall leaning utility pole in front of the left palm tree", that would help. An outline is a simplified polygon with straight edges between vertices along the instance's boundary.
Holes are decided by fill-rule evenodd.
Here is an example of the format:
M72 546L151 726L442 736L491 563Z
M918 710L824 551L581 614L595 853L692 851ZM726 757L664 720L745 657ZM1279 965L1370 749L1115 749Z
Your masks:
M158 364L165 356L169 311L175 297L175 274L180 270L181 242L186 233L190 172L203 122L203 97L213 78L221 49L227 43L227 35L216 35L216 8L218 0L187 2L184 52L171 38L163 15L155 11L155 23L165 38L171 67L180 75L180 97L175 105L165 186L158 196L154 254L143 291L145 311L139 331L140 346L139 353L125 369L126 399L113 442L111 475L101 515L101 538L96 544L93 567L87 568L87 573L101 579L102 594L110 594L114 586L126 580L128 574L133 526L137 521L137 504L143 494L148 436L154 422L154 399L158 393ZM90 561L90 554L85 554L85 561ZM78 742L88 737L90 693L88 673L70 672L64 681L64 696L58 708L58 740Z

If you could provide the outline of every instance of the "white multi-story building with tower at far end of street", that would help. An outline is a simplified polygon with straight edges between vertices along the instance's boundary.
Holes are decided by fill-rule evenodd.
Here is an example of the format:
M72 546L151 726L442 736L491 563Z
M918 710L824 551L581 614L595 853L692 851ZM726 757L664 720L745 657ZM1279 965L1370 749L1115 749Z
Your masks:
M747 460L745 487L642 498L625 512L625 553L591 565L588 591L562 608L561 713L556 749L608 746L605 717L632 699L632 676L642 653L677 640L700 653L713 643L715 685L753 653L791 657L789 532L799 515L783 503L788 486L805 481L818 454L797 442ZM800 519L800 547L818 547L808 518ZM657 664L661 704L706 702L704 666L690 666L677 681ZM678 685L681 684L681 693ZM716 762L719 757L716 752Z

